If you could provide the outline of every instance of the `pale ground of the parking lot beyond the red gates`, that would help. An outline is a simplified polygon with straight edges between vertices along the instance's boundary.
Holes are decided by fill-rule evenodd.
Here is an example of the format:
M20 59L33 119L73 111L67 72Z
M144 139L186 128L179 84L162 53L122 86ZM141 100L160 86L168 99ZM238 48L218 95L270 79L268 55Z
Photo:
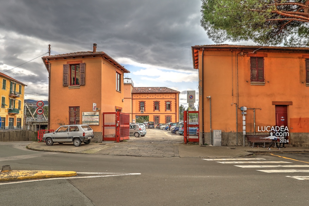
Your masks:
M130 136L128 141L141 141L141 142L184 142L184 136L179 134L171 134L170 131L161 129L147 129L145 137Z

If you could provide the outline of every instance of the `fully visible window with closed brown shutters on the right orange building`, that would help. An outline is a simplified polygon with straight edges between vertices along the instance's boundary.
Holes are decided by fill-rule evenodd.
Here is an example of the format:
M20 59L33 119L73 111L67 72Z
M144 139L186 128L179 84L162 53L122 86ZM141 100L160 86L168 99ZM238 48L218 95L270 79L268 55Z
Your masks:
M265 83L264 57L250 57L250 81L253 84Z

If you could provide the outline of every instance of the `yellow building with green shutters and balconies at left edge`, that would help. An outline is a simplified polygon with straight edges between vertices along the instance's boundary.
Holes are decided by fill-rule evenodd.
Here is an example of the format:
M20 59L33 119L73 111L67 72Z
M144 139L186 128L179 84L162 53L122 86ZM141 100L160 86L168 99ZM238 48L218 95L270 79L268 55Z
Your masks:
M1 129L19 129L23 126L25 84L0 72Z

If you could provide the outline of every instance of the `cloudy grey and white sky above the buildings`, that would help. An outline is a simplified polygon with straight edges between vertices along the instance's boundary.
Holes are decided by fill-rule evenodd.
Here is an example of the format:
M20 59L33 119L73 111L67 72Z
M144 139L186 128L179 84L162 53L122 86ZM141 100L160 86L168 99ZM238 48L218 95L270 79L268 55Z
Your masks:
M25 99L48 99L41 57L49 44L56 55L90 51L96 43L97 51L131 72L125 77L134 86L178 90L188 107L186 91L198 91L191 46L213 44L200 26L201 0L0 0L0 5L0 72L28 85Z

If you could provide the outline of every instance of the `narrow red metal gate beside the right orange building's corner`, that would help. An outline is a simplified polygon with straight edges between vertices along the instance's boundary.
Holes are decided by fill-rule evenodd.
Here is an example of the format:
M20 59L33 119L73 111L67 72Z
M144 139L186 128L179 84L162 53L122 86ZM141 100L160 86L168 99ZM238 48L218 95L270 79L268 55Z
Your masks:
M197 122L193 122L189 118L189 114L191 113L197 113ZM200 128L200 119L198 118L198 111L184 111L184 143L187 144L187 142L199 142L199 135L198 134L191 134L189 132L190 127L198 127L197 131Z

